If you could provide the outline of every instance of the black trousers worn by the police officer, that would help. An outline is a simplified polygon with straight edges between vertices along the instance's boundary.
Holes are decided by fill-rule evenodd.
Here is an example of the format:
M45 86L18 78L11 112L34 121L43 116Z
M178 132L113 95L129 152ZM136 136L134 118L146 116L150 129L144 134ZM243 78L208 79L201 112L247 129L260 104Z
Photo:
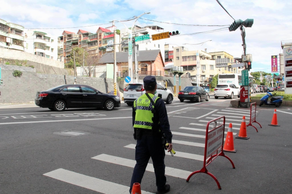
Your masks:
M157 191L164 189L166 183L164 156L165 150L161 144L161 137L142 135L142 138L137 140L135 152L136 165L131 180L130 193L134 183L141 184L150 157L153 162Z

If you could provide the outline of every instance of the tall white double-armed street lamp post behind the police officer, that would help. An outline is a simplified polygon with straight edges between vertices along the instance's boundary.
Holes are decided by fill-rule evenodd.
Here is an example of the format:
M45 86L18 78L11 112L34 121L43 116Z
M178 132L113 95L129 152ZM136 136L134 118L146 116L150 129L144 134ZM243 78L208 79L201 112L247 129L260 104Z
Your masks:
M136 21L137 21L142 15L145 15L145 14L150 14L150 12L142 13L141 15L139 15L138 17L136 17L135 21L134 21L133 24L132 24L131 32L128 31L128 27L127 27L123 22L121 22L121 21L119 21L119 20L113 20L113 21L121 22L121 23L125 26L125 28L126 28L126 32L127 32L127 34L128 34L128 47L130 47L129 42L132 43L132 31L133 31L133 27L134 27ZM136 49L135 49L135 52L136 52ZM133 83L133 70L132 70L132 66L133 66L133 58L132 58L132 53L130 54L130 52L128 51L128 54L129 54L129 55L128 55L128 74L129 74L128 76L131 77L131 82L130 82L130 83ZM136 57L136 54L135 54L135 57ZM136 61L137 61L137 60L135 60L135 72L138 70L138 68L136 67ZM138 71L137 71L137 72L138 72ZM136 80L138 81L138 74L137 74L137 78L136 78Z

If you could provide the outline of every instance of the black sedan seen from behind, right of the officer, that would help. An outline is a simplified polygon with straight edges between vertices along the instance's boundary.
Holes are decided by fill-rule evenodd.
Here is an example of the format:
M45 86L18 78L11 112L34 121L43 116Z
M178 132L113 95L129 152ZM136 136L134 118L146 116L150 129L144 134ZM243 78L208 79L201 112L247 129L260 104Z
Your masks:
M205 91L203 87L198 86L187 86L182 91L178 93L178 99L180 102L184 100L197 100L197 102L201 102L201 100L209 101L209 94Z

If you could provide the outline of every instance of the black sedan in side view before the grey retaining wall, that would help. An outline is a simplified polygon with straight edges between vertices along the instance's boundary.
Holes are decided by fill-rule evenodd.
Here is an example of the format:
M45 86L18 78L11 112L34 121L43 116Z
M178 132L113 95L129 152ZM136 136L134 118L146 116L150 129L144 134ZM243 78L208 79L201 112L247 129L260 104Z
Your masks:
M46 91L38 91L34 100L39 107L55 111L65 108L102 108L113 110L121 106L118 96L102 93L85 85L61 85Z

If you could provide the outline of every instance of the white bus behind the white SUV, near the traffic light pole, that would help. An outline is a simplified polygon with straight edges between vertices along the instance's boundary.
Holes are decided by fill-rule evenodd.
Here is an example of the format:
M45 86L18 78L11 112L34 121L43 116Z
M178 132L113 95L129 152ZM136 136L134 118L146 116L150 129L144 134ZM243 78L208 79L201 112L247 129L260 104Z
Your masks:
M253 76L248 75L248 83L253 91ZM218 84L234 84L237 87L241 86L241 74L223 73L218 75Z

